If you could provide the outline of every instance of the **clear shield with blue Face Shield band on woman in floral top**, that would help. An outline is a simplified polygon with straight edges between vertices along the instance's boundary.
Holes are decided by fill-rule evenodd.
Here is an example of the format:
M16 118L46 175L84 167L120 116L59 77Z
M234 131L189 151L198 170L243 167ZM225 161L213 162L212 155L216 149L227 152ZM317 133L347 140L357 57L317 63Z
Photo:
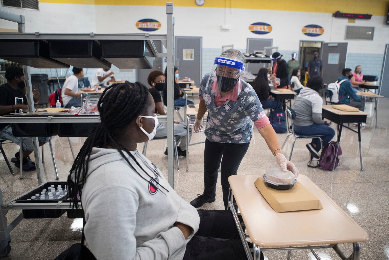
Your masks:
M215 58L205 90L214 96L221 96L221 93L240 93L242 90L240 79L243 73L242 62L228 58Z

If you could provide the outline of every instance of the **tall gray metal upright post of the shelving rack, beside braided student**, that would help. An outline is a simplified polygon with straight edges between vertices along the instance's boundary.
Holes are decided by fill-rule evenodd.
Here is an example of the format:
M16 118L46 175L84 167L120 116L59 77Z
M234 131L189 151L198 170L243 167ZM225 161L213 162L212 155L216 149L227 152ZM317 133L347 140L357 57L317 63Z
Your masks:
M173 3L166 3L166 87L167 87L167 130L168 130L168 182L174 189L174 96L173 96Z

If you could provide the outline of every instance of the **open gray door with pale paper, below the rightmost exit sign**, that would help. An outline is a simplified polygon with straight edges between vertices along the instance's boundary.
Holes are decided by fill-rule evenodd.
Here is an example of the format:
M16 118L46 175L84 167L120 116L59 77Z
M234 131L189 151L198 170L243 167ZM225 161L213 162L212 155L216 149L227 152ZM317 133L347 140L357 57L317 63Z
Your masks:
M346 65L347 42L324 42L321 60L323 62L323 82L329 84L342 76Z

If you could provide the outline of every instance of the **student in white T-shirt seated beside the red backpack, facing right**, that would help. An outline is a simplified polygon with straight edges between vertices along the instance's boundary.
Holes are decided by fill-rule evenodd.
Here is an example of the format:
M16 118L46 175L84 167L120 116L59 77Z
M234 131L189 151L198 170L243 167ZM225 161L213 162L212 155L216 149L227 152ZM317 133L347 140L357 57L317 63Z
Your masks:
M78 90L78 79L84 76L84 70L73 67L73 75L68 76L62 87L62 103L64 108L81 106L81 90Z

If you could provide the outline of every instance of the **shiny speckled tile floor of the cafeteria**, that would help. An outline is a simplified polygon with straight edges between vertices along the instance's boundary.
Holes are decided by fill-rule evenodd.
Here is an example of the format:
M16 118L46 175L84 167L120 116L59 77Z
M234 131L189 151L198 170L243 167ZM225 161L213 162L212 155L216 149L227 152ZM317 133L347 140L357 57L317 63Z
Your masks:
M366 127L362 130L362 150L365 172L359 171L359 150L357 134L345 129L342 133L340 166L335 172L307 168L307 141L297 140L292 161L301 174L307 175L338 205L349 214L369 234L369 241L361 244L361 258L364 260L389 259L389 100L382 99L379 104L378 127L374 128L372 118L368 117ZM335 127L332 125L332 127ZM261 174L273 166L274 159L260 134L254 133L249 150L244 157L238 174ZM279 142L285 140L286 134L277 134ZM204 134L193 134L192 142L204 140ZM71 138L75 150L80 149L84 138ZM60 180L66 180L72 164L72 155L67 138L54 137L54 154ZM288 155L292 140L289 139L284 154ZM138 146L142 150L143 145ZM150 141L147 157L167 175L167 157L163 154L166 140ZM18 151L14 144L4 144L5 153L11 159ZM202 193L203 184L203 150L204 145L189 148L189 172L186 172L186 160L180 158L181 170L175 170L175 189L188 202ZM45 181L54 180L54 169L49 156L49 147L44 145ZM9 173L7 165L0 156L0 183L4 201L9 201L37 186L35 172L24 173L23 180ZM175 166L177 169L177 166ZM221 185L217 184L216 202L207 203L204 209L223 209ZM9 210L6 217L11 222L21 210ZM58 219L23 219L11 232L11 253L4 259L42 259L55 258L61 251L81 239L81 219L68 219L66 214ZM342 245L350 253L349 245ZM318 250L323 260L339 259L331 249ZM265 259L286 259L285 251L266 251ZM294 251L294 260L313 260L314 255L307 250Z

